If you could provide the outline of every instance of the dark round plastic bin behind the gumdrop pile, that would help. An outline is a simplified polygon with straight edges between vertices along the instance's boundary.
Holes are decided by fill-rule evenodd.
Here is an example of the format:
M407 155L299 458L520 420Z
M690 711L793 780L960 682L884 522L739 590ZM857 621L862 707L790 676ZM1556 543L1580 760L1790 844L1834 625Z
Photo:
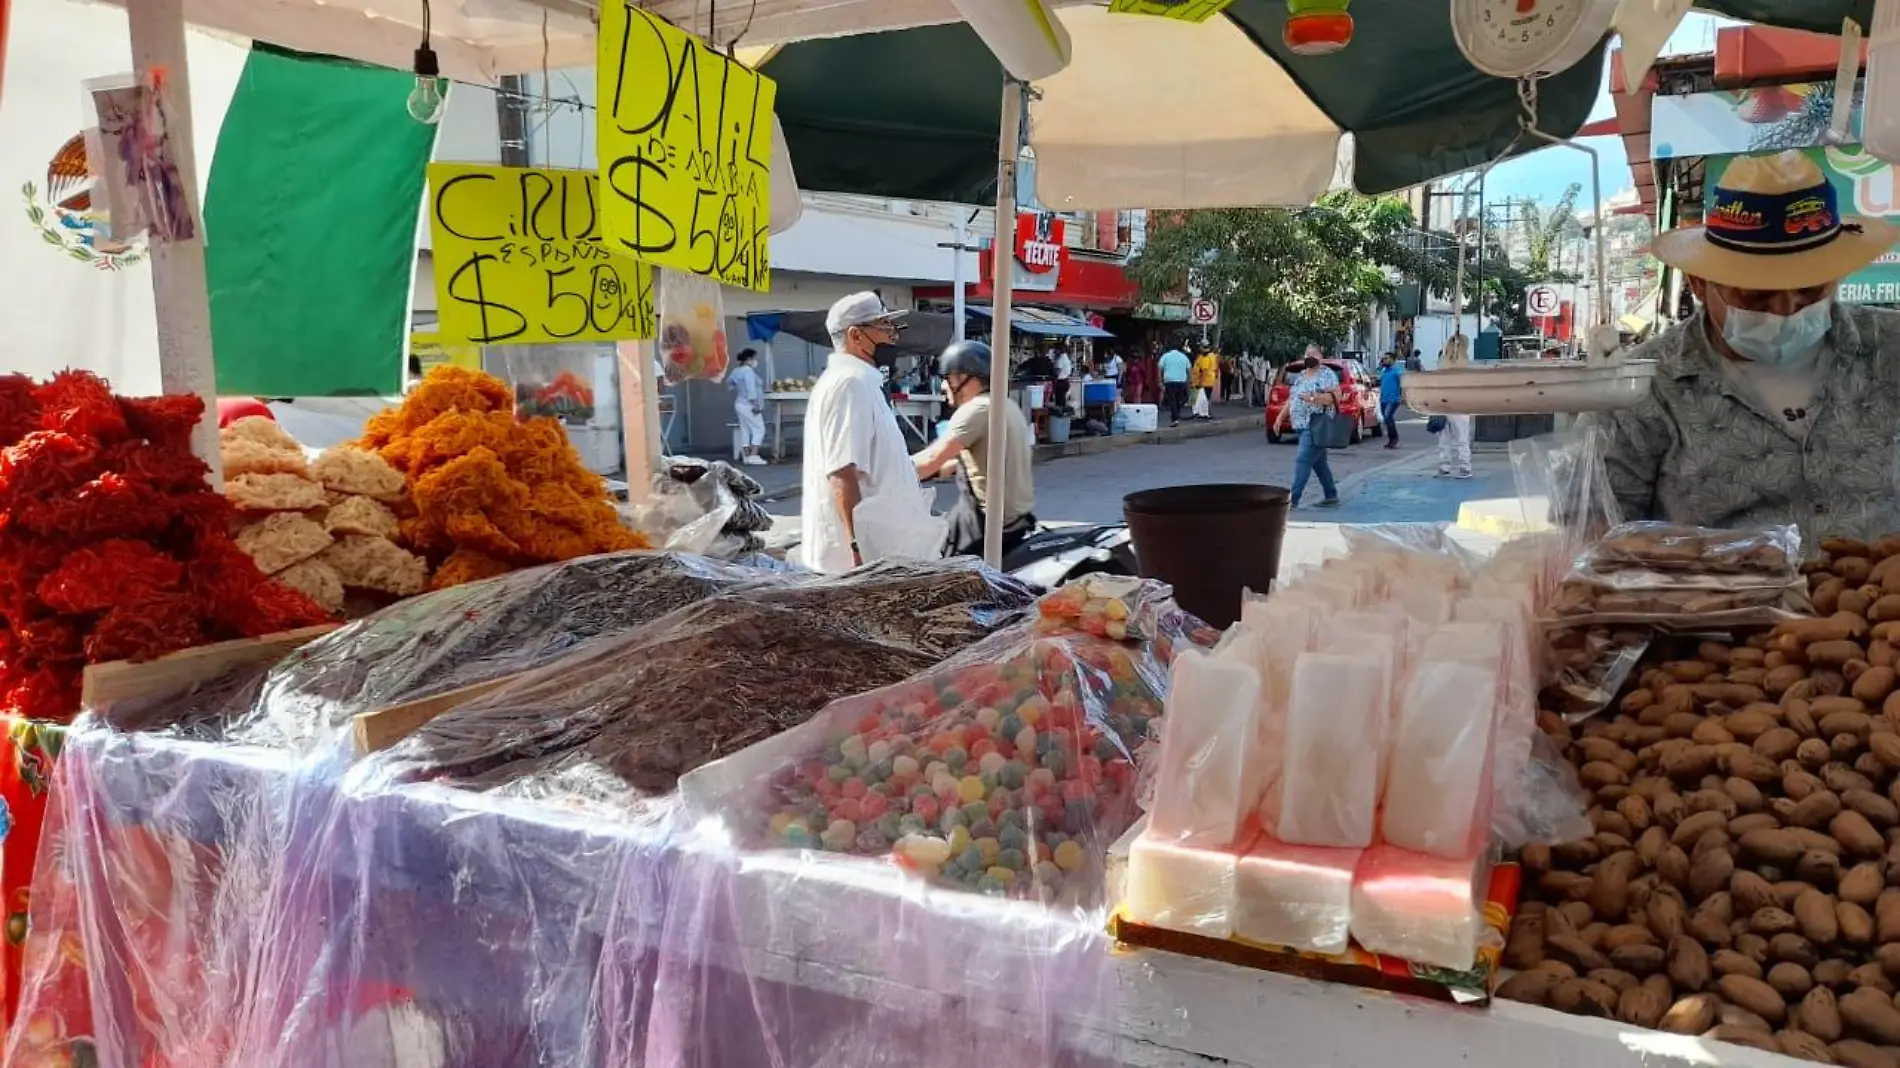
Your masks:
M1142 578L1214 627L1241 618L1241 591L1265 593L1281 570L1292 492L1250 483L1163 486L1121 498Z

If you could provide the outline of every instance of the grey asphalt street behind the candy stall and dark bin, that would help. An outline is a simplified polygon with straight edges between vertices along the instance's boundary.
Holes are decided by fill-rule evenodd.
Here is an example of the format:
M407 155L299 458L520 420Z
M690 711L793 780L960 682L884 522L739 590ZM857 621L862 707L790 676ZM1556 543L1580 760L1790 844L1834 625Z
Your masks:
M1340 547L1340 524L1457 523L1465 511L1467 519L1486 517L1478 524L1467 523L1469 528L1457 534L1472 547L1495 544L1501 534L1524 524L1510 456L1503 447L1478 447L1472 452L1471 479L1440 479L1434 477L1436 439L1425 433L1423 418L1402 422L1398 441L1400 447L1393 450L1383 448L1381 441L1364 441L1330 452L1343 504L1315 509L1320 490L1317 481L1307 486L1305 507L1288 517L1282 574L1292 566L1319 563L1328 549ZM768 496L775 496L766 507L783 517L781 526L796 524L798 466L750 471L766 483ZM1043 523L1119 523L1121 498L1144 488L1186 483L1290 486L1294 447L1269 445L1265 433L1248 429L1068 456L1036 464L1034 471L1036 515ZM954 486L939 486L939 511L950 505L954 494Z

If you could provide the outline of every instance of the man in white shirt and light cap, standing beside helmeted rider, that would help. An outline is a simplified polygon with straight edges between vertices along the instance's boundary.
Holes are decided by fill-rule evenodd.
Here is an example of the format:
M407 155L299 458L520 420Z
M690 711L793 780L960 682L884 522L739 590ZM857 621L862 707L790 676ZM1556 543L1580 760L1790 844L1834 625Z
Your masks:
M884 374L874 361L880 344L897 342L902 312L876 293L853 293L825 317L830 359L806 407L804 519L800 561L823 574L859 566L855 511L859 502L906 494L923 507L918 471L904 448L897 412L884 397Z

